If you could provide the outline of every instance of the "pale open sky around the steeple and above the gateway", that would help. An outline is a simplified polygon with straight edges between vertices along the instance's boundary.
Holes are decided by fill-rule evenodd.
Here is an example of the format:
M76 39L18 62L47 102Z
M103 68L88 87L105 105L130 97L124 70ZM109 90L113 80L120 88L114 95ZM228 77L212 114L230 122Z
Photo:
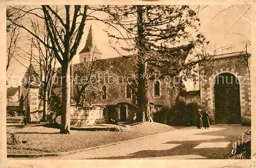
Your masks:
M190 6L191 9L196 9L197 7L198 6ZM200 32L210 41L212 47L216 46L216 48L219 48L218 54L242 51L245 49L245 44L251 41L251 31L253 27L255 27L255 16L250 6L200 6L198 17L201 20ZM91 24L94 40L97 43L97 47L102 52L102 58L118 57L118 53L110 47L108 35L103 31L106 26L99 21L86 22L84 34L78 46L77 53L79 53L86 43ZM26 36L24 36L24 38L26 39ZM221 47L228 49L221 49ZM248 52L250 52L250 50L250 46L248 46ZM9 83L7 87L18 86L18 79L23 78L26 72L26 66L28 67L29 62L25 60L20 60L20 62L25 66L20 65L15 59L12 60L11 66L7 72ZM73 58L73 64L76 63L79 63L78 54ZM188 88L188 90L191 89L191 87Z

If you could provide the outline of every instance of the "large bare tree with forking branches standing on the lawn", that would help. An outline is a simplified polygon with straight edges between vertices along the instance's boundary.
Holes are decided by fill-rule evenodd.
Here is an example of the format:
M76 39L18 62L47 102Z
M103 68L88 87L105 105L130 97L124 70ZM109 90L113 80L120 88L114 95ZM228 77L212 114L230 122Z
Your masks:
M77 47L83 34L84 25L86 24L85 21L87 18L88 6L76 5L71 9L71 6L66 5L65 8L57 12L51 6L42 5L41 8L37 8L36 10L42 12L43 16L41 17L35 13L35 9L25 11L25 13L38 17L45 22L47 34L50 37L50 44L47 44L43 39L38 37L33 30L29 29L29 26L19 24L16 25L22 27L24 30L34 36L45 47L53 50L54 57L61 65L62 115L60 133L69 134L69 109L71 99L70 65L74 55L77 52ZM54 20L57 20L59 24L55 25Z

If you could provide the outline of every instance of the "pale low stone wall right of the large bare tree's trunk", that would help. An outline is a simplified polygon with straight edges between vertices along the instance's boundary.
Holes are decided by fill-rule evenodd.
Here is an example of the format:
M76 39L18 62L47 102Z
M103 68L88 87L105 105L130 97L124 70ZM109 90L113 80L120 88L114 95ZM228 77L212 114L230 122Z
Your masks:
M70 125L82 126L82 125L94 125L105 123L103 117L103 108L70 108Z

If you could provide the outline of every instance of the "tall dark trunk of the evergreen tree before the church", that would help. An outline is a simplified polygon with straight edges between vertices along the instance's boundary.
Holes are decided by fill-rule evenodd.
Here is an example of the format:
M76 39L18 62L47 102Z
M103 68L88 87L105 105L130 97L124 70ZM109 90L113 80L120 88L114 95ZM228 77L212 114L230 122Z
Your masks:
M138 13L138 90L137 90L137 113L136 120L138 122L153 121L150 113L148 113L148 96L147 96L147 77L146 77L146 47L144 39L144 27L142 21L142 6L137 6Z

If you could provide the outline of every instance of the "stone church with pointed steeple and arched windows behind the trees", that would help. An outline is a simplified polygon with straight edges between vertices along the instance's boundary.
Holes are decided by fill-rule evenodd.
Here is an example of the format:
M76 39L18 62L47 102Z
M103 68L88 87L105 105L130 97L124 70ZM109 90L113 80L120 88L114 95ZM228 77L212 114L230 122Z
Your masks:
M84 48L79 52L79 64L84 62L92 61L94 58L101 59L99 60L102 64L98 68L104 71L108 66L112 66L115 69L115 75L112 77L122 76L133 77L131 75L136 74L136 55L126 55L125 57L113 57L109 59L102 59L101 51L97 48L95 44L92 26L90 27L89 34L87 37L86 44ZM184 61L187 57L188 52L182 53L184 55ZM108 65L104 66L104 63L108 62ZM72 65L72 69L76 69L79 64ZM57 72L57 77L61 75L61 69ZM75 76L76 72L73 72ZM131 74L133 73L133 74ZM110 74L111 75L111 74ZM97 104L97 105L108 105L114 108L116 113L115 120L117 121L130 121L135 117L135 105L136 97L133 93L131 86L126 81L120 81L119 79L113 79L114 82L107 81L105 83L98 83L93 85L93 87L98 88L99 92L93 95L93 98L88 101L85 101L84 104ZM60 80L58 80L60 81ZM87 87L87 91L90 90L90 86ZM148 101L150 103L150 110L154 110L155 106L172 106L174 98L180 93L181 90L185 90L184 83L180 81L178 86L172 85L172 83L164 82L164 78L159 77L158 80L155 80L155 77L152 76L148 80ZM61 99L61 86L59 83L55 83L52 92ZM73 90L73 93L75 91ZM73 95L73 94L72 94ZM76 113L78 110L71 110ZM77 112L78 113L78 112ZM80 112L79 112L80 113ZM92 111L90 112L92 113ZM103 111L102 111L103 113ZM99 114L99 113L98 113ZM73 115L73 112L71 116ZM89 116L89 114L87 114ZM102 114L99 114L99 119L102 119ZM94 116L95 117L95 116ZM90 117L87 117L87 120L90 120ZM81 122L81 121L77 121Z

